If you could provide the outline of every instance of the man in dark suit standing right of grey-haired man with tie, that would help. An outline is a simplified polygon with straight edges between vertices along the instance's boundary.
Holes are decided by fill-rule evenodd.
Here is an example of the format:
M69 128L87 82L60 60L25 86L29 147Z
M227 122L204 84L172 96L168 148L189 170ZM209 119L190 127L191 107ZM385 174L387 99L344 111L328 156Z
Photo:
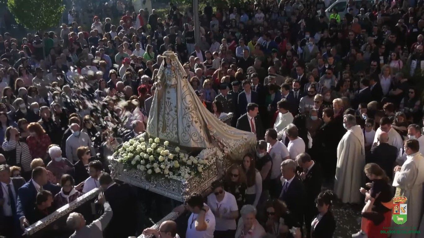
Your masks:
M306 191L304 217L307 237L310 237L312 219L318 214L315 199L321 192L322 172L318 163L312 161L310 155L301 153L296 156L296 161L301 168L298 176L303 182Z

